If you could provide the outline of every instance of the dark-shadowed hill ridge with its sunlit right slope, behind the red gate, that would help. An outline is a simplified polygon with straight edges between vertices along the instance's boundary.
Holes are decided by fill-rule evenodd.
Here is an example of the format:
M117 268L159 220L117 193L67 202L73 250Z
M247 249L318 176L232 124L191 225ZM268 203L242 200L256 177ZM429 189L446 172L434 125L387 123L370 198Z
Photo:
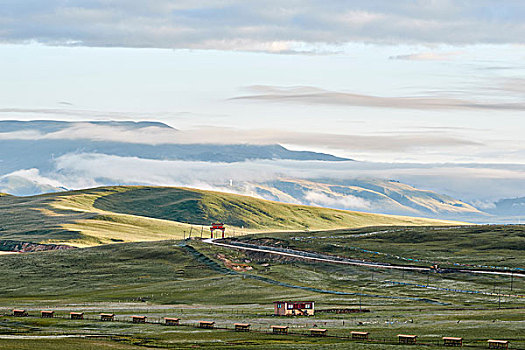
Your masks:
M250 229L325 229L371 224L428 224L426 219L370 215L290 205L231 193L187 188L124 187L98 198L94 207L197 225L222 221ZM435 222L435 221L434 221Z

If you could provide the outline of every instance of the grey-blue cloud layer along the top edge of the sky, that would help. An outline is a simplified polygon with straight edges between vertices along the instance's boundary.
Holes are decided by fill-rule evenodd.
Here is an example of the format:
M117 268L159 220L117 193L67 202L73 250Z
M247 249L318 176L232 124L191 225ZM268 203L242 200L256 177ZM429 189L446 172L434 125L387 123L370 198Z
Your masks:
M0 40L277 53L347 42L522 44L524 17L518 0L8 0Z

